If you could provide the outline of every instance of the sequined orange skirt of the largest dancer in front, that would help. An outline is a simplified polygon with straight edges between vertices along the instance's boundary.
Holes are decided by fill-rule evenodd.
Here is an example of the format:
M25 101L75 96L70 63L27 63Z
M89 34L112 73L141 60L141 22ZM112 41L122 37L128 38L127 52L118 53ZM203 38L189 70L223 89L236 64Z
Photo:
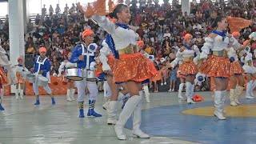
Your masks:
M114 82L142 82L158 73L153 62L141 53L121 54L114 63Z

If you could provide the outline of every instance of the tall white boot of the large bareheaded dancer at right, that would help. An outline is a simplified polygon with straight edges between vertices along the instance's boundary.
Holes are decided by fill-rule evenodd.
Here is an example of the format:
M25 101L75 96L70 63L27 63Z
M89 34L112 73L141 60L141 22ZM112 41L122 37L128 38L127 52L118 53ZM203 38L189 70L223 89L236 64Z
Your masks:
M224 95L224 96L223 96ZM214 92L214 106L215 106L215 111L214 115L221 120L226 119L223 116L223 110L224 110L224 102L223 102L223 97L225 100L225 95L226 95L226 90L224 91L215 91Z

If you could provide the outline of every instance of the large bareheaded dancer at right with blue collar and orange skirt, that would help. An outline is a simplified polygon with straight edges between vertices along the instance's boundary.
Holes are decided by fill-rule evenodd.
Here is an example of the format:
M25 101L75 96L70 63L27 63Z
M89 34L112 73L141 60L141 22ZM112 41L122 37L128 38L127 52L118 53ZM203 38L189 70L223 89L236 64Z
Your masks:
M212 25L213 30L207 38L205 38L204 46L202 46L202 53L200 54L202 74L206 74L214 78L216 90L214 91L214 115L221 120L226 119L223 116L224 102L226 97L226 88L228 86L228 79L230 77L230 60L227 58L226 49L228 46L238 44L237 40L231 35L226 34L228 26L226 18L218 16ZM213 55L209 58L210 50ZM203 63L202 63L203 62Z

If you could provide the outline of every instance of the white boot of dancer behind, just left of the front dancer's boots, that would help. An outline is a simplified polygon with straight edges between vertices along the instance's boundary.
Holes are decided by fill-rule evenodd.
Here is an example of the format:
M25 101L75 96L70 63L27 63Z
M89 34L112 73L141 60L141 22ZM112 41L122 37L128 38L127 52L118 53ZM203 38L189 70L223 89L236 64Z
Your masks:
M117 114L118 114L118 101L110 101L108 103L107 109L107 124L115 125L118 122Z

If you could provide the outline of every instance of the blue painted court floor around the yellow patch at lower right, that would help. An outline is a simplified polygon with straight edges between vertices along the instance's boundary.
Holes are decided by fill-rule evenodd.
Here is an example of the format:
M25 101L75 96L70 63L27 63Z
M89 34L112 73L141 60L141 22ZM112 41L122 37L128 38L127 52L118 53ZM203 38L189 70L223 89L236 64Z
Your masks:
M240 100L242 104L255 104L255 100ZM226 106L230 102L226 101ZM213 102L186 103L142 110L142 130L152 136L172 137L201 143L256 143L256 117L227 117L182 114L183 110L213 106ZM239 108L238 108L239 109ZM132 127L129 120L127 128Z

